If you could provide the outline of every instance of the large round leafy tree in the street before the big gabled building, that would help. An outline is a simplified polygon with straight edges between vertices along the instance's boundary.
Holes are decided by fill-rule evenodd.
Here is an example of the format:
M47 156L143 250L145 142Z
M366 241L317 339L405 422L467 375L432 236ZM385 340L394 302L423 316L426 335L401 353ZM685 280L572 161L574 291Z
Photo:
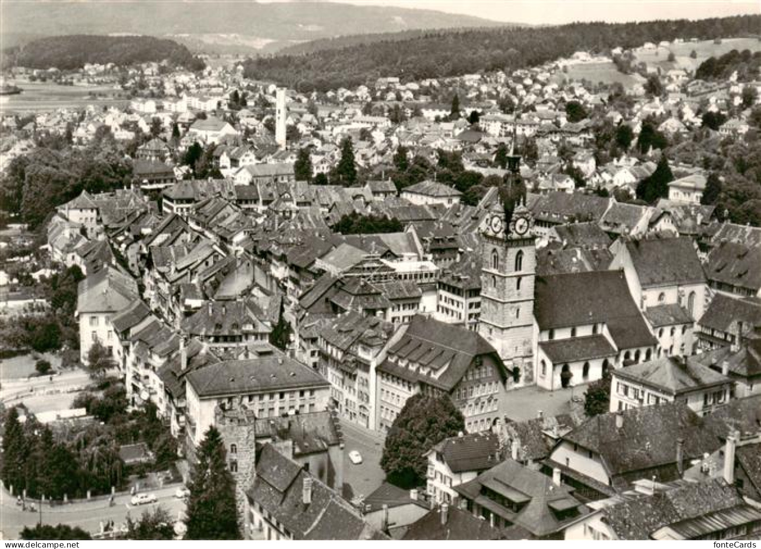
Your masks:
M409 397L386 437L380 467L392 484L425 484L425 453L441 440L465 430L465 420L451 399L415 394Z

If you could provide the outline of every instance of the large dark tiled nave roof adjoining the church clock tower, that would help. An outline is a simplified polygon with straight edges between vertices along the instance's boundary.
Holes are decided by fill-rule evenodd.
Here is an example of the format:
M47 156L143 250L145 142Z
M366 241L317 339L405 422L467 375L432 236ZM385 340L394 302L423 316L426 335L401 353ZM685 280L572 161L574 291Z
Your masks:
M537 276L535 296L540 330L606 323L619 350L656 343L622 271Z

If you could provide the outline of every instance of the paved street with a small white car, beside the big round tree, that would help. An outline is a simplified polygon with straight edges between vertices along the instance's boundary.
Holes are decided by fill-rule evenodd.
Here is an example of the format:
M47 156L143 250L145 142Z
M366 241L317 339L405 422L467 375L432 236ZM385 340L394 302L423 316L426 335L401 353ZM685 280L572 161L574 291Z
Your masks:
M368 496L380 486L386 475L380 468L380 455L383 453L384 436L354 423L341 421L345 448L343 451L344 496L352 497L362 494ZM362 455L362 463L355 465L349 460L349 452L357 450Z

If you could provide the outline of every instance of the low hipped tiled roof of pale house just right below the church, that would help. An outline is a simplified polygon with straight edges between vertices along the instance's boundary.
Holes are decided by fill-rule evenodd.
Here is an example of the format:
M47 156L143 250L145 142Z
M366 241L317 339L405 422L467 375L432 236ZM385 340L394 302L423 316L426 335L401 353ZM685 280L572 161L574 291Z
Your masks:
M690 360L691 358L667 356L618 369L613 375L673 395L731 382L729 378Z

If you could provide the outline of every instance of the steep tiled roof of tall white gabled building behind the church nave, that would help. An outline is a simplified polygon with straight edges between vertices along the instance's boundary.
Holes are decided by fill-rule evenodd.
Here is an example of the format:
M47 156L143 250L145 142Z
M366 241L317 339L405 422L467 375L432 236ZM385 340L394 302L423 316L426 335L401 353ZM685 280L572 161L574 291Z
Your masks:
M626 249L643 288L705 282L693 239L643 238L629 241Z

